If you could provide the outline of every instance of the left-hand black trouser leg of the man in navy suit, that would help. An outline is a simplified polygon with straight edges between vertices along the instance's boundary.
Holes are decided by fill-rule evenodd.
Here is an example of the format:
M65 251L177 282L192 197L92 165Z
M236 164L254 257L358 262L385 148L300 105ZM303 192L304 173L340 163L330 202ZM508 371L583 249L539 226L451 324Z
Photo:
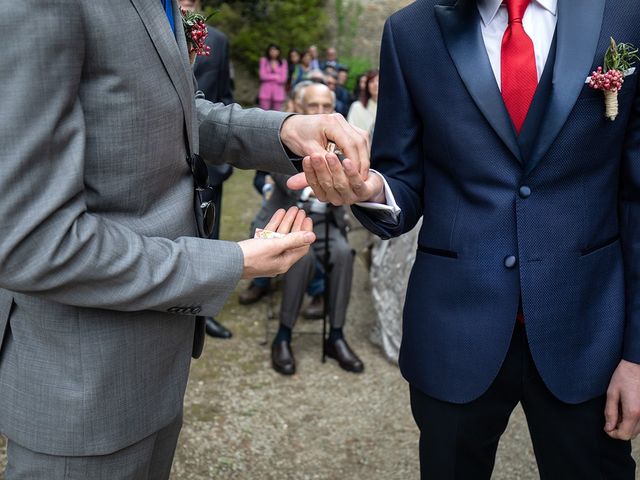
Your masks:
M491 478L498 441L520 397L524 342L522 327L516 327L498 376L470 403L443 402L411 387L411 409L420 429L422 479Z

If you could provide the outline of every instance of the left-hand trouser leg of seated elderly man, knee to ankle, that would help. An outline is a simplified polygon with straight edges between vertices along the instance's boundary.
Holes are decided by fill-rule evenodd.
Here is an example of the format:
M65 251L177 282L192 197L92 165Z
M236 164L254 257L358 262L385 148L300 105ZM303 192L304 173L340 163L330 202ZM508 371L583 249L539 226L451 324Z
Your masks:
M313 278L315 257L310 250L282 277L282 305L280 307L280 323L293 328L304 300L304 292Z

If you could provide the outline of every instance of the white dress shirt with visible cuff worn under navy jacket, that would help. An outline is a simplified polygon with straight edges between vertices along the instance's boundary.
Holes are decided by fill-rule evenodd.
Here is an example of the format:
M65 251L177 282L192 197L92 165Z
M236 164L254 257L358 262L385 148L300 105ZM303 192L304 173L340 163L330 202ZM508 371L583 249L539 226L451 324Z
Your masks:
M498 88L501 88L500 63L502 50L502 37L509 23L509 13L502 0L478 0L478 11L481 18L482 39L487 50L493 75L496 78ZM542 77L549 50L553 43L553 35L558 23L558 0L531 0L522 18L522 26L533 42L533 50L536 57L536 69L538 80ZM374 175L380 175L371 170ZM388 221L397 222L400 208L398 207L387 181L382 176L385 186L386 204L358 203L376 215L386 218Z

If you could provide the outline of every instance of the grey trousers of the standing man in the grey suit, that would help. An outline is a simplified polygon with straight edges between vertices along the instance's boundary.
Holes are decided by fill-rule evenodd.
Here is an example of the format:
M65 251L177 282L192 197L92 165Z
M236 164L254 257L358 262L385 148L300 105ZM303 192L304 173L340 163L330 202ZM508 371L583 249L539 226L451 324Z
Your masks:
M34 452L9 440L6 480L166 480L182 427L169 425L110 455L65 457Z

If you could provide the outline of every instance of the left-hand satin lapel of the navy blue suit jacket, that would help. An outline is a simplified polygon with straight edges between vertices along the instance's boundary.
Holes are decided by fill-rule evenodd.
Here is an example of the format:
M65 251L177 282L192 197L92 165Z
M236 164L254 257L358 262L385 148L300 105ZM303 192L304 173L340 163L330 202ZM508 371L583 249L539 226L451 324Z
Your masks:
M475 1L436 5L435 13L451 59L469 94L511 153L522 163L513 122L482 39L480 13Z

